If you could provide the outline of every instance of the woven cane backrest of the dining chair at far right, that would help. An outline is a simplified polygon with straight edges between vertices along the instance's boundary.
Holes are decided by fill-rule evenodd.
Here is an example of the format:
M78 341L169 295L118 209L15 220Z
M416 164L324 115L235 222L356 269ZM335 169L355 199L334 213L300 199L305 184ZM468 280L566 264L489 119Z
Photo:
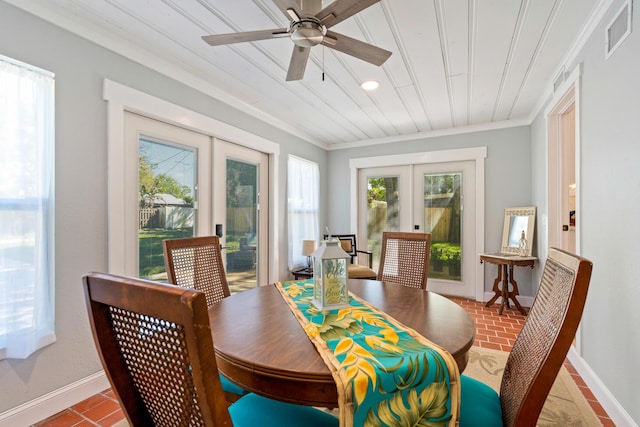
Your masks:
M535 426L573 342L591 279L591 261L551 248L540 288L500 386L505 426Z

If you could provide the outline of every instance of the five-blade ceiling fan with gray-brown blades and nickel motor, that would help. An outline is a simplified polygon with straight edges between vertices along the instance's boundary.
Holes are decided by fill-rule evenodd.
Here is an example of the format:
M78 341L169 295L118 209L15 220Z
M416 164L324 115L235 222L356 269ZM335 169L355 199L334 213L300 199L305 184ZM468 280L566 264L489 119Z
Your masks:
M388 50L328 30L380 0L336 0L323 9L322 0L299 1L305 5L305 10L296 0L273 0L291 20L289 28L215 34L203 36L202 39L211 46L220 46L289 36L295 46L289 63L287 81L302 79L311 48L318 44L378 66L391 56Z

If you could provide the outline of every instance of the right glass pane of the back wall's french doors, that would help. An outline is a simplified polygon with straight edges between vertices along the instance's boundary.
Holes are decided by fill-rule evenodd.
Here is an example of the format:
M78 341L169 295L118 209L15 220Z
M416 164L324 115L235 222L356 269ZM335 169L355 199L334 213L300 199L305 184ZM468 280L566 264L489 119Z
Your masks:
M462 173L424 175L424 230L431 233L429 277L462 279Z

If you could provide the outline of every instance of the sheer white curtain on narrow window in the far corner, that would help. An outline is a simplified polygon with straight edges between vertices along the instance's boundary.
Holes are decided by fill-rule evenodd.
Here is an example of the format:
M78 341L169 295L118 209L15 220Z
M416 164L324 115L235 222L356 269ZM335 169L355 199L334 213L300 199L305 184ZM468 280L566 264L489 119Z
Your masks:
M289 270L307 264L302 255L302 241L318 242L320 170L318 164L289 156L287 164L287 222Z

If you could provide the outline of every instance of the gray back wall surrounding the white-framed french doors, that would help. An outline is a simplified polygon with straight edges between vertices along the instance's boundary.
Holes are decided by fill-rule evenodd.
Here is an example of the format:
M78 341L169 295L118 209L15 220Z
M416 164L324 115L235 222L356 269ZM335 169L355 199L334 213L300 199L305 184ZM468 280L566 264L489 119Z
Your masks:
M356 231L350 230L350 200L354 197L349 187L350 159L487 147L485 250L497 252L502 243L504 209L532 204L530 135L529 126L520 126L330 151L327 182L331 189L327 195L331 207L327 213L330 230L335 233ZM336 208L338 206L339 208ZM535 250L534 245L534 253ZM492 267L485 268L486 290L493 286L496 271ZM518 287L521 294L533 295L532 276L530 269L518 270Z

